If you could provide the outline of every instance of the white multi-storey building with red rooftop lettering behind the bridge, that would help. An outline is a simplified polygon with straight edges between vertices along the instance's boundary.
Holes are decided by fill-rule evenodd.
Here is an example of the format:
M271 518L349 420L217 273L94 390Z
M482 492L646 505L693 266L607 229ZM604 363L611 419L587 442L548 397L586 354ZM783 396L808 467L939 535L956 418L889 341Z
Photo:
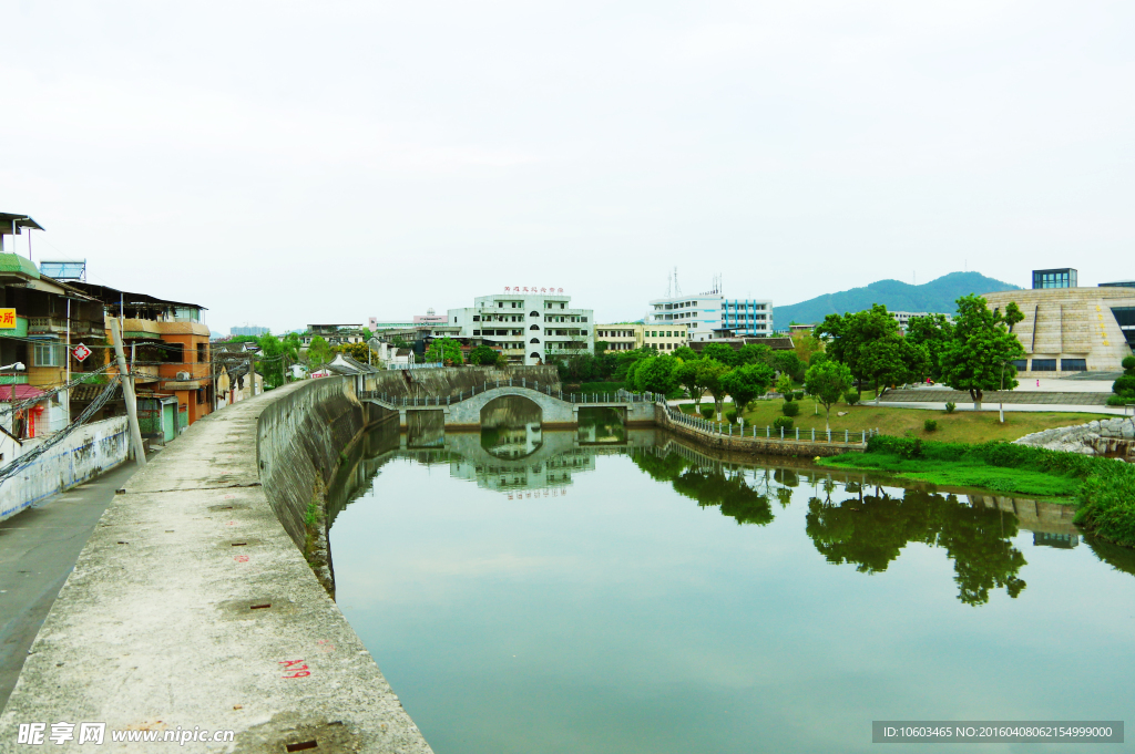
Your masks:
M506 291L473 299L473 306L451 308L451 327L461 337L481 338L514 364L544 364L595 346L595 314L571 306L571 296Z

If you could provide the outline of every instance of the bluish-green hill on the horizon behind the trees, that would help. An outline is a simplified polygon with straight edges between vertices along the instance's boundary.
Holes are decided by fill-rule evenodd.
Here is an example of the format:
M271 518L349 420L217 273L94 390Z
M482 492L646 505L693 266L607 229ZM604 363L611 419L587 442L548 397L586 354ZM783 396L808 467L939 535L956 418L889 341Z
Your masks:
M989 294L995 290L1019 290L1018 286L986 278L981 272L951 272L936 280L911 286L899 280L878 280L865 288L841 290L817 296L789 306L773 305L773 324L787 329L790 322L807 324L823 322L829 314L846 314L883 304L892 312L940 312L952 314L955 302L969 294Z

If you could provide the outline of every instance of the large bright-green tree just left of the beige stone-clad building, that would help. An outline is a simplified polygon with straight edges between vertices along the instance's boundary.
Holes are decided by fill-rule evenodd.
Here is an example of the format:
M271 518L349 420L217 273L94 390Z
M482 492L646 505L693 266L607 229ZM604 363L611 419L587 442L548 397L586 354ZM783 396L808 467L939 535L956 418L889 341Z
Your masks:
M967 390L976 410L982 408L985 390L1017 387L1017 367L1011 362L1024 356L1017 336L984 298L958 299L953 337L942 353L942 380L955 390Z

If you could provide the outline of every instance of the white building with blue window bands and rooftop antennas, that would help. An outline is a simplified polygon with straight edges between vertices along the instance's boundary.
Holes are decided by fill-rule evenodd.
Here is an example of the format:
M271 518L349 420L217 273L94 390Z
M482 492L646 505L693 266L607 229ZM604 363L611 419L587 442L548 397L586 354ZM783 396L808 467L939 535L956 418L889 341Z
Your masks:
M712 340L715 330L758 338L773 333L773 303L770 299L726 298L716 293L655 298L644 323L648 327L684 324L689 340Z

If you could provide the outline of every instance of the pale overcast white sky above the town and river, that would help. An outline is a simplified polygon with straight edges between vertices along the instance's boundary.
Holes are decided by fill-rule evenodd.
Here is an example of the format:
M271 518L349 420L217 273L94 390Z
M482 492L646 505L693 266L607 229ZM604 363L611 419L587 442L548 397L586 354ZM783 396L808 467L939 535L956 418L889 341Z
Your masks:
M674 268L774 306L1135 278L1130 2L0 10L0 211L213 332L514 285L634 320Z

